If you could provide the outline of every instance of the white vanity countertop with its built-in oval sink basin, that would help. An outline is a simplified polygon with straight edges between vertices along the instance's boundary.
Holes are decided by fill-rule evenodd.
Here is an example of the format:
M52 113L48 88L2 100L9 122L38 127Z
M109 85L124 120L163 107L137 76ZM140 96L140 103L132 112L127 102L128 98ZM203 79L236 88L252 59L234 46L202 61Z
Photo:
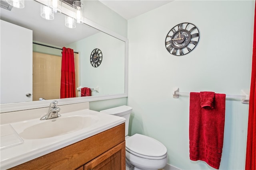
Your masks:
M10 123L24 142L1 150L0 169L28 162L125 122L123 117L90 109L60 114L61 117L54 119L40 120L38 116L36 119Z

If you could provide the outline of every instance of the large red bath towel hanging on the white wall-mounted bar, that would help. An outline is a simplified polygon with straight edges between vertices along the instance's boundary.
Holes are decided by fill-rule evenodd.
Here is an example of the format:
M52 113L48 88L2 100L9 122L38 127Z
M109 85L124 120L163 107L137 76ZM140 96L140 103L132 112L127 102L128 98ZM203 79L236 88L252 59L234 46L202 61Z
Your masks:
M214 108L204 109L200 105L200 93L190 93L190 160L203 160L213 168L218 169L220 167L225 103L225 94L215 94Z

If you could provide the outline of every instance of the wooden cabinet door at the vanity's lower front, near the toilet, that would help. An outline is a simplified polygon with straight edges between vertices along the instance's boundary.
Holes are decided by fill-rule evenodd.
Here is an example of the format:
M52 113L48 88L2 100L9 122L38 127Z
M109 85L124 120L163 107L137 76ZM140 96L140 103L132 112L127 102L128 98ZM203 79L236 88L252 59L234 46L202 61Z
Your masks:
M85 164L84 170L125 170L125 141Z

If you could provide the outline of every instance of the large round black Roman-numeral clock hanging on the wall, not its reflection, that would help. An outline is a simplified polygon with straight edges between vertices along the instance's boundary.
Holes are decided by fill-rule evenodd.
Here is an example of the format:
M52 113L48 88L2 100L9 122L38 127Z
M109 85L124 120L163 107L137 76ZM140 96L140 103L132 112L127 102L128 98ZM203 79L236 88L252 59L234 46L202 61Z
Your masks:
M188 22L175 25L167 34L165 47L167 51L176 56L182 56L192 51L199 41L198 28Z

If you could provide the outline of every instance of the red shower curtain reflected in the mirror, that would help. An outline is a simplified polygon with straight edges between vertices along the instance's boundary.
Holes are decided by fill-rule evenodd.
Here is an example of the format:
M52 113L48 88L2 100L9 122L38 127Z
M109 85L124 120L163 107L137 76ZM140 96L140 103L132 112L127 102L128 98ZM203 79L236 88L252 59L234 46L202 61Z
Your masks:
M62 48L60 98L76 97L74 50Z

